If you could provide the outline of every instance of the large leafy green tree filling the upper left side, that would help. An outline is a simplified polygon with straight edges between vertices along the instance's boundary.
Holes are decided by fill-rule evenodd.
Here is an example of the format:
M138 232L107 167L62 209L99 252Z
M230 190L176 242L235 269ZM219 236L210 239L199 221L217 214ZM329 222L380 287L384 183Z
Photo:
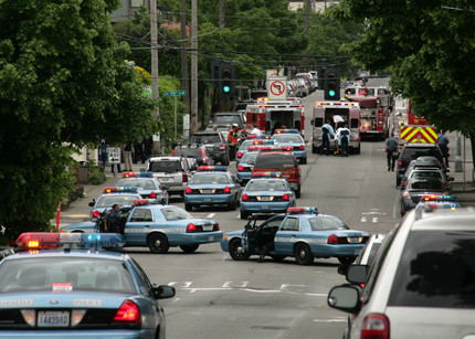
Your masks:
M118 1L0 2L0 224L45 230L73 184L72 153L155 134L146 97L113 36Z

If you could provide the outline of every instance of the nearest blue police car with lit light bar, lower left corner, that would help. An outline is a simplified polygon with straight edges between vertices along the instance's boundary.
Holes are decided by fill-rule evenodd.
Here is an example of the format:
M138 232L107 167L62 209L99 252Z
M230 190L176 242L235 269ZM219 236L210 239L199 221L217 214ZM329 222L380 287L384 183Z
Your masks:
M120 234L23 233L17 244L24 252L0 262L0 338L165 338L158 299L175 288L104 251L120 250Z

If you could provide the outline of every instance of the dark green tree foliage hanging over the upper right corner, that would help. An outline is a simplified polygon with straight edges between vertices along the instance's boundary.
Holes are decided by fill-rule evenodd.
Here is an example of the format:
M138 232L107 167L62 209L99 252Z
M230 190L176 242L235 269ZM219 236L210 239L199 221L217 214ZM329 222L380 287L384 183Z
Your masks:
M369 70L389 67L393 89L436 127L469 137L475 158L473 1L342 0L334 18L365 23L351 55Z

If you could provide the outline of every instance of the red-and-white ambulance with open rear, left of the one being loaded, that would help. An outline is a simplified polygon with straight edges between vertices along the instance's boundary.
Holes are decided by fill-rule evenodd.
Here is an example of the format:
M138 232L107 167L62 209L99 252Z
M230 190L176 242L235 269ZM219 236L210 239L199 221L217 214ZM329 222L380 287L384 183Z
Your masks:
M246 107L246 123L255 125L265 134L273 134L279 128L298 129L304 136L304 105L298 98L287 100L268 100L258 98Z

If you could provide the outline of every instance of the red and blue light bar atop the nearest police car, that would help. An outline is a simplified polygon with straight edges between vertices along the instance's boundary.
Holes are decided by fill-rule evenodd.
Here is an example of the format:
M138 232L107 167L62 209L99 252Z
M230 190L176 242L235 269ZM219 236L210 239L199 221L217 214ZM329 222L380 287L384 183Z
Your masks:
M118 233L22 233L17 240L19 248L122 248L124 237Z

